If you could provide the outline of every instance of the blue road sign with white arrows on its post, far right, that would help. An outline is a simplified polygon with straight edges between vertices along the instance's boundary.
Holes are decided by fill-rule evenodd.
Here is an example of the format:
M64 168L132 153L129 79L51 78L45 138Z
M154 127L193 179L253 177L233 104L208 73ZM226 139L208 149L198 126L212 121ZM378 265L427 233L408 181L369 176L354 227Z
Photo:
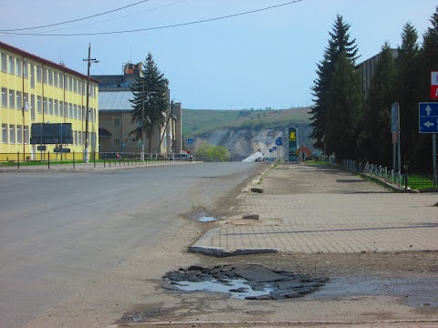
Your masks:
M436 133L438 132L438 103L419 103L418 118L418 131L420 133L432 133L433 186L436 186Z

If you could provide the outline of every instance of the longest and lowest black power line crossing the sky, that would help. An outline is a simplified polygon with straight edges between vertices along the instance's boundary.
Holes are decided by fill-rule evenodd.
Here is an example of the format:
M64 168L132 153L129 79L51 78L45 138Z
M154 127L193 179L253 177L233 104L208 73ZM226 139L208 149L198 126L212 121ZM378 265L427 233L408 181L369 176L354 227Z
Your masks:
M224 15L224 16L220 16L220 17L202 19L202 20L188 22L188 23L173 24L173 25L169 25L169 26L155 26L155 27L139 28L139 29L133 29L133 30L124 30L124 31L77 33L77 34L36 34L36 33L13 33L13 32L3 32L3 31L0 31L0 33L7 34L7 35L15 35L15 36L101 36L101 35L134 33L134 32L152 31L152 30L158 30L158 29L180 27L180 26L191 26L191 25L195 25L195 24L213 22L213 21L222 20L222 19L226 19L226 18L232 18L232 17L236 17L236 16L240 16L240 15L254 14L257 12L266 11L269 9L274 9L274 8L285 6L285 5L297 4L297 3L302 2L302 1L304 1L304 0L294 0L294 1L289 1L287 3L280 4L280 5L271 5L268 7L250 10L250 11L246 11L243 13L238 13L238 14L233 14L233 15Z

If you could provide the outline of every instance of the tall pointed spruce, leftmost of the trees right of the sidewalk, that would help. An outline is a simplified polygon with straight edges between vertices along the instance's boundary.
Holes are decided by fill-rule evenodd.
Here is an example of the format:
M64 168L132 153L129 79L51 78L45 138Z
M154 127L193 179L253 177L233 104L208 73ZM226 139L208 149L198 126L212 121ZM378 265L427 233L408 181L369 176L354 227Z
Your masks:
M362 110L362 100L358 97L359 94L356 93L358 86L360 90L360 84L356 83L356 81L359 81L359 76L353 77L355 75L354 64L358 58L358 47L356 46L355 39L350 40L349 27L349 24L344 22L342 16L338 15L332 31L329 32L328 46L326 47L323 60L318 63L318 77L314 81L314 87L312 87L315 106L310 111L310 114L312 114L311 126L313 127L311 137L317 139L314 146L322 148L322 145L325 143L328 152L335 151L335 149L338 152L340 151L337 154L338 158L344 156L343 153L347 149L349 149L348 153L350 153L351 147L355 148L356 145L353 139L349 140L349 147L344 145L345 139L337 140L336 138L340 136L339 131L343 128L349 129L356 126L358 124L356 119L360 118L359 111ZM339 62L340 64L338 65ZM338 75L343 73L351 73L351 75L342 79ZM354 95L351 95L351 97L345 95L346 97L343 100L334 97L335 94L339 97L345 94L339 87L336 87L337 83L341 83L340 85L350 91L355 90ZM348 83L353 83L353 85L349 86ZM352 104L352 99L356 99L355 101L359 103ZM344 106L353 106L351 113L349 113L349 108ZM343 112L345 117L342 117ZM341 120L337 121L339 118ZM341 122L343 123L342 126L340 125ZM324 143L322 141L323 138Z

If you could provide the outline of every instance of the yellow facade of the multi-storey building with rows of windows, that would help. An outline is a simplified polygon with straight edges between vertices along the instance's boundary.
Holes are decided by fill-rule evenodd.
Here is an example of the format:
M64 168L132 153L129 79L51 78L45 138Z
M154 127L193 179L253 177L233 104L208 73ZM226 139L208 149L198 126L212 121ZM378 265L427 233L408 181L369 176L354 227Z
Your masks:
M20 160L36 159L36 153L39 159L37 145L30 144L31 126L32 123L47 122L72 124L73 144L65 145L64 148L75 151L78 153L76 158L81 159L84 151L82 136L86 130L87 77L79 73L75 75L68 68L63 69L56 64L38 61L34 56L26 57L26 53L14 52L1 45L0 56L0 161L11 159L11 154L16 158L17 152L20 152ZM14 66L12 71L11 63ZM37 73L38 70L41 74ZM40 81L37 80L38 76L41 76ZM77 85L76 89L74 84ZM14 98L15 104L12 104L11 98ZM28 110L25 109L26 101L29 104ZM62 115L60 102L64 105ZM99 151L99 91L95 82L90 82L89 108L89 151L93 152ZM26 127L26 131L23 127ZM47 151L52 152L55 146L47 145Z

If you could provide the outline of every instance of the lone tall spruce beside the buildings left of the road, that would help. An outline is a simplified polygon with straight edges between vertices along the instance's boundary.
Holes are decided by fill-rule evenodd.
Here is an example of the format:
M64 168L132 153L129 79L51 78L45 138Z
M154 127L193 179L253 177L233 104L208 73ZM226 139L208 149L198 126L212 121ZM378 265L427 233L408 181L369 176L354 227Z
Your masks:
M141 125L148 138L148 152L151 152L151 140L153 133L160 134L166 121L167 103L167 79L164 78L160 69L156 66L151 53L144 62L141 77L130 87L133 99L132 122L137 122L137 128L130 132L137 140L141 139ZM142 103L144 103L144 117L142 117Z

